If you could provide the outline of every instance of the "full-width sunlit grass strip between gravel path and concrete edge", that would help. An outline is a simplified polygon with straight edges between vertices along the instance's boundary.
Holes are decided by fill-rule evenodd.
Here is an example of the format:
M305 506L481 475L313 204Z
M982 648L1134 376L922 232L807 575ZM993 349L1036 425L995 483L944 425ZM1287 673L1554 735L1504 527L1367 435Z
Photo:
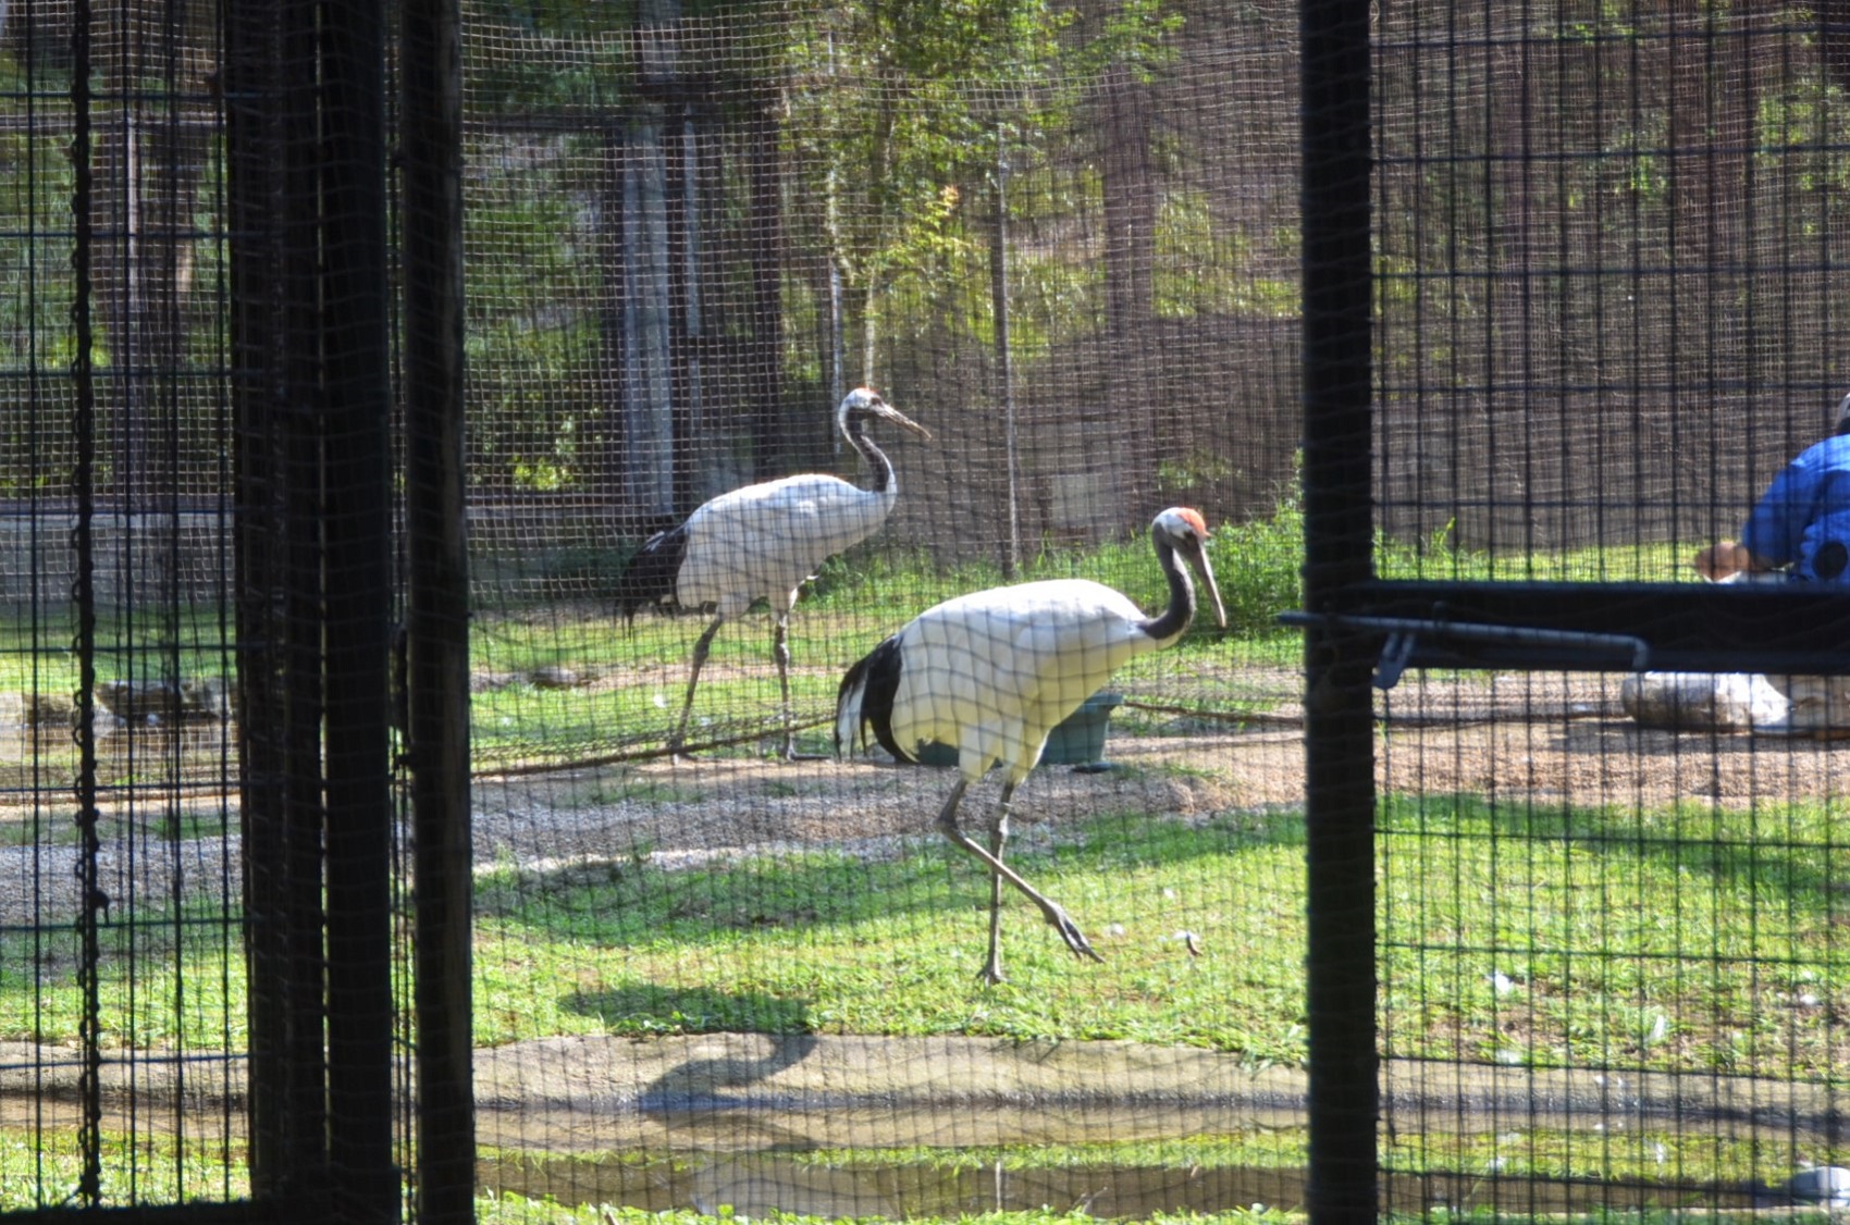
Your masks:
M1843 809L1384 798L1388 1053L1832 1081L1850 1066L1833 1003L1850 981ZM1127 814L1027 846L1010 860L1104 964L1077 962L1008 897L1012 981L980 986L988 883L923 835L875 862L810 851L679 872L644 855L596 872L498 868L477 881L475 1038L1125 1038L1302 1062L1299 814ZM235 933L204 910L192 920L144 909L104 929L105 1044L242 1038ZM68 929L0 940L0 1038L74 1038L74 942Z

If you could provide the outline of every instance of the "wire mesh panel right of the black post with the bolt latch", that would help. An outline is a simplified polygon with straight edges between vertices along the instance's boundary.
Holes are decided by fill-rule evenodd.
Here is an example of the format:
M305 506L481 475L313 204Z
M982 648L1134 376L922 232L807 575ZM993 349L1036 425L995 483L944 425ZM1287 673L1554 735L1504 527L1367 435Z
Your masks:
M1380 572L1685 585L1611 588L1600 625L1637 638L1560 672L1413 670L1380 703L1391 1201L1841 1194L1843 698L1785 675L1841 661L1835 631L1763 648L1843 568L1833 477L1774 481L1850 390L1844 17L1382 9ZM1756 574L1704 553L1733 538ZM1704 568L1804 583L1656 662ZM1558 625L1550 590L1517 624Z

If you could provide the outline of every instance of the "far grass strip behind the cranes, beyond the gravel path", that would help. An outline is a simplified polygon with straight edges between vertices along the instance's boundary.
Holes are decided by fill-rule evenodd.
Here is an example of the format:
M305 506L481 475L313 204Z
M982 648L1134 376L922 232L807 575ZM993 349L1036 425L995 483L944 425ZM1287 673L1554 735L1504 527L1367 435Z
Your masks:
M1240 707L1238 677L1254 664L1295 668L1302 638L1278 625L1278 614L1302 607L1304 516L1295 494L1280 496L1269 516L1215 526L1210 553L1228 629L1206 616L1171 651L1132 661L1123 685L1173 681L1199 674L1217 683L1215 711ZM1493 557L1460 550L1450 531L1426 540L1376 538L1375 566L1388 579L1432 581L1691 581L1691 550L1672 544L1572 550ZM1086 577L1123 590L1145 609L1166 600L1162 572L1138 535L1088 551L1047 548L1027 559L1016 581ZM805 588L790 620L792 703L807 751L832 748L827 716L844 668L914 614L956 594L993 587L1003 575L990 563L938 568L923 553L868 546L829 559ZM642 612L622 624L609 605L549 607L544 616L485 612L475 629L475 668L511 679L474 698L474 748L485 768L535 761L585 761L609 753L659 748L673 727L686 687L701 614ZM758 611L725 625L712 642L701 675L690 738L725 740L760 733L760 742L731 753L764 751L777 735L779 688L770 659L771 620ZM1232 648L1232 650L1228 650ZM609 685L540 690L527 683L540 668L572 668L610 677ZM640 679L638 679L640 677ZM1254 696L1256 712L1276 694ZM1123 722L1127 712L1117 716Z

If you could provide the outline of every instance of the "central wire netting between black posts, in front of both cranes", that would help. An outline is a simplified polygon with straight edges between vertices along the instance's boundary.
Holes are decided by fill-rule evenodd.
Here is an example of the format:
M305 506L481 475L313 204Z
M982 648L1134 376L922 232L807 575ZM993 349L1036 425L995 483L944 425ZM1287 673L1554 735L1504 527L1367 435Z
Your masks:
M1301 1120L1245 1108L1302 1055L1293 39L1291 6L470 22L485 1186L1295 1203ZM1145 651L1173 505L1232 629L1197 577ZM1019 786L1010 720L1058 724Z

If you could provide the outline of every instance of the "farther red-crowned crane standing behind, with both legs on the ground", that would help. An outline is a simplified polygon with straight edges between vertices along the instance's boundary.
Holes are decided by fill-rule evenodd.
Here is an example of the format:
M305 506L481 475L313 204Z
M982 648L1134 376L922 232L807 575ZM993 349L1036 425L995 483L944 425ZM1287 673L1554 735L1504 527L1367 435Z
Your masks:
M720 494L679 527L649 537L616 583L616 607L625 620L649 603L683 609L714 607L712 624L694 642L694 668L668 749L686 744L694 687L727 618L742 614L755 600L771 601L775 633L771 657L784 696L784 757L796 757L796 724L790 714L790 611L797 590L825 559L866 540L886 522L899 496L894 464L868 437L870 420L910 429L921 439L931 431L886 403L871 387L847 392L836 409L836 426L873 470L870 489L838 476L810 472L786 476Z

